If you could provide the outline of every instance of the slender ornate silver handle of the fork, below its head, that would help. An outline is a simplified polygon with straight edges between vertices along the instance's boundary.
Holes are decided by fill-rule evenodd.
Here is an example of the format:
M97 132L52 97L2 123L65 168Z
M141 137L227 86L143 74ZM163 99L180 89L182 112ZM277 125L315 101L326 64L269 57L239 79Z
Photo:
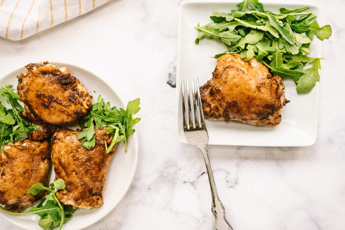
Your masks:
M217 189L214 183L213 173L211 169L211 164L209 163L207 146L204 149L199 149L204 156L207 175L209 180L209 186L211 188L212 195L212 213L215 218L214 230L233 230L230 224L225 219L225 209L222 202L218 198Z

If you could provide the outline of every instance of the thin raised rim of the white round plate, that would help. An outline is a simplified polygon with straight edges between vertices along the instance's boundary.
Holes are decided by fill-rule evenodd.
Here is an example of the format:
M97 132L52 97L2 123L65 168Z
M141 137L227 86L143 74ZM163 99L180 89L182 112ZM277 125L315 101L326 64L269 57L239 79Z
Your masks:
M116 91L114 90L114 88L112 87L111 84L108 84L106 83L101 77L99 77L99 75L97 73L95 73L94 71L91 71L89 70L88 68L84 68L82 66L80 66L80 64L76 65L74 63L66 63L66 62L63 62L63 61L60 61L60 60L56 60L56 59L48 59L47 62L49 62L49 64L57 64L57 65L63 65L64 67L67 67L69 68L70 67L73 67L73 68L79 68L83 71L86 71L88 72L89 74L95 76L98 80L102 81L104 84L108 85L109 88L112 90L112 92L118 97L120 103L122 104L121 106L124 107L125 104L122 100L122 98L116 93ZM37 62L32 62L32 63L42 63L42 61L37 61ZM25 66L20 66L18 68L14 67L12 71L8 71L6 72L5 74L3 74L1 77L0 77L0 81L2 80L2 78L8 76L8 75L11 75L11 74L14 74L16 73L17 71L19 71L20 69L23 69L25 68ZM79 79L79 78L78 78ZM124 196L127 194L128 190L131 188L131 185L133 183L133 180L134 180L134 176L136 174L136 171L137 171L137 168L138 168L138 154L139 154L139 143L138 143L138 132L135 132L133 134L133 140L131 140L134 142L134 149L135 149L135 154L134 154L134 167L133 167L133 170L131 172L131 174L128 176L128 178L130 178L130 183L128 184L128 188L126 188L123 192L123 194L120 195L120 199L118 200L117 203L115 203L113 205L112 208L110 208L108 211L105 211L103 214L100 215L100 218L98 218L97 220L95 221L92 221L90 223L88 223L87 225L85 226L82 226L80 228L77 228L77 229L74 229L74 230L81 230L81 229L84 229L84 228L87 228L87 227L90 227L91 225L94 225L96 224L97 222L101 221L106 215L108 215L111 211L113 211L115 209L115 207L120 203L120 201L124 198ZM52 166L52 169L53 170L53 166ZM11 218L8 218L7 216L3 215L2 212L0 212L0 215L2 218L4 218L6 221L8 221L9 223L19 227L19 228L22 228L22 229L25 229L25 230L30 230L28 227L22 225L22 224L19 224L18 222L12 220ZM37 223L38 225L38 223ZM64 229L64 228L63 228Z

